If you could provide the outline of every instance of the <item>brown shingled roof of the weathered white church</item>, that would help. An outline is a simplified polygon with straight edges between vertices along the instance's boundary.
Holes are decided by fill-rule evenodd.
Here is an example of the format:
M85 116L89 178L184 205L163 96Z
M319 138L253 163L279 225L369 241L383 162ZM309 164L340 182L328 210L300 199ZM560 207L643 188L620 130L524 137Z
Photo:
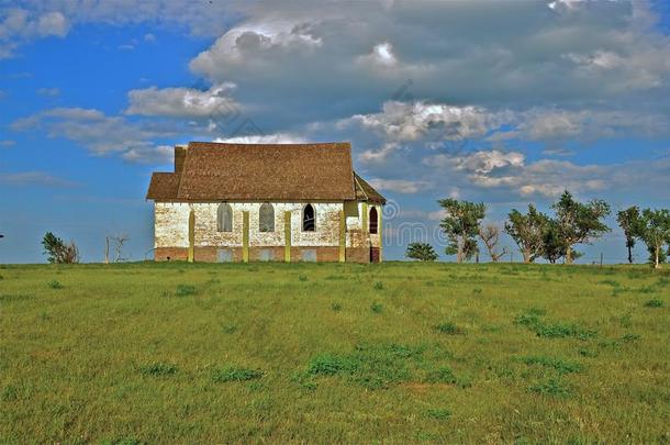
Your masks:
M362 180L365 186L357 186L349 143L191 142L186 149L177 147L176 151L186 156L180 157L183 163L179 163L174 174L153 174L147 199L345 201L357 199L359 189L381 197Z

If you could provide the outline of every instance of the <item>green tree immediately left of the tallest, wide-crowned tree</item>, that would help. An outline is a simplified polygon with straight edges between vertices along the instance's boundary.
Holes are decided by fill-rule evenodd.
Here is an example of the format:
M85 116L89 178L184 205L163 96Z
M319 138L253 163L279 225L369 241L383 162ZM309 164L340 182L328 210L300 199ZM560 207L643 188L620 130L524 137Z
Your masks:
M512 209L507 216L505 232L518 246L524 263L533 263L543 255L543 234L549 218L538 212L533 204L528 204L527 214Z

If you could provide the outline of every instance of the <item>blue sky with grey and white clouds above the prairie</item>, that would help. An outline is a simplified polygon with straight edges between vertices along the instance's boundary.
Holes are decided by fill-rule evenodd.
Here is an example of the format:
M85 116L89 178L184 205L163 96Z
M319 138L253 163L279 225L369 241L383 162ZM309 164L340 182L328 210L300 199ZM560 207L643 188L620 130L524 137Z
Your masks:
M397 259L440 245L449 196L498 224L565 188L670 208L665 2L139 4L0 0L0 263L43 262L46 231L143 259L150 173L190 140L350 141ZM611 225L582 262L625 259Z

